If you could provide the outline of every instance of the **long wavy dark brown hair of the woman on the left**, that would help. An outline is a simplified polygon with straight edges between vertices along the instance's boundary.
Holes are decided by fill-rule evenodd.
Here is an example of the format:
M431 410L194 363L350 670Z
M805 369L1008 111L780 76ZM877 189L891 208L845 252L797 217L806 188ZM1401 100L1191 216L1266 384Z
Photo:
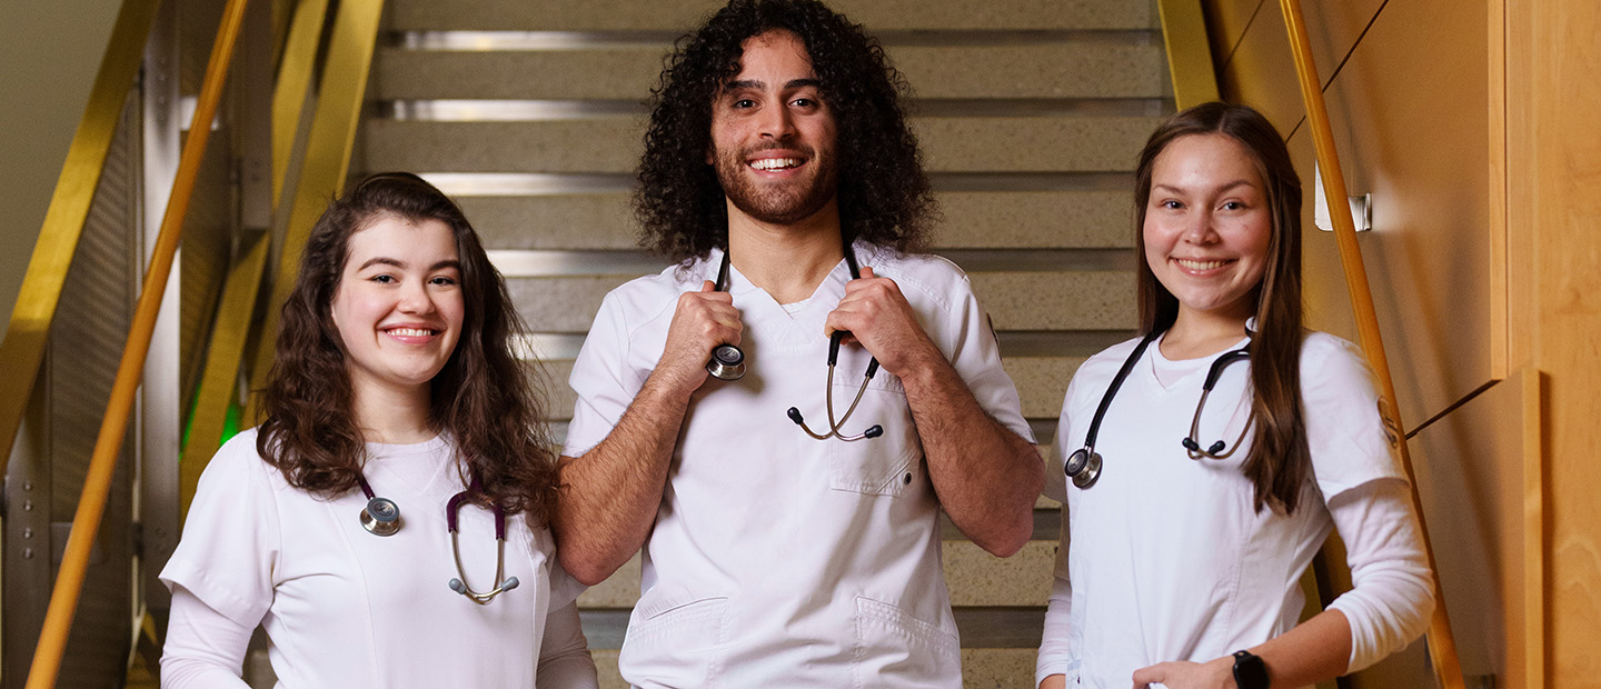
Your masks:
M512 352L527 328L461 208L410 173L363 179L312 227L295 289L283 302L256 451L304 491L335 497L357 488L367 448L331 304L351 235L386 216L443 222L461 264L466 313L455 350L429 385L429 424L453 438L463 484L477 476L480 502L546 523L559 481L556 444L536 395L544 376Z

